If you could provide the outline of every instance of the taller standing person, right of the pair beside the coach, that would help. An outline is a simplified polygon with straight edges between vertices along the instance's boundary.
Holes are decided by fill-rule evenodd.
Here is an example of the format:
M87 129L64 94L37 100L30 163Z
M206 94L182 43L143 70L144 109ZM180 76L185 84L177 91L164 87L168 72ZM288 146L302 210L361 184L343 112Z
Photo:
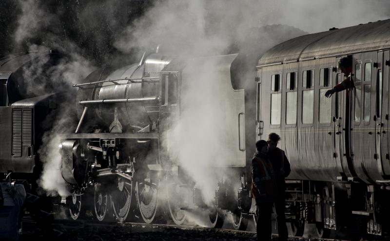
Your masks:
M277 199L275 201L275 211L278 229L278 241L287 241L289 233L287 231L286 216L285 216L285 178L290 174L291 168L289 160L284 151L277 148L277 143L280 141L280 136L276 133L268 135L268 158L272 164L276 185L277 185Z

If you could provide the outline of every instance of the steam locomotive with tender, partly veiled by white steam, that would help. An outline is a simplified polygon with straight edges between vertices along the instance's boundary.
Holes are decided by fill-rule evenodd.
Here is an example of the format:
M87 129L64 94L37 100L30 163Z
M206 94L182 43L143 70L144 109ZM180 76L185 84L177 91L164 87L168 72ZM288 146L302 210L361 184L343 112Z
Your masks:
M170 151L175 148L171 136L179 122L184 125L184 116L188 117L181 103L187 101L188 109L188 101L192 100L184 93L191 95L189 86L207 79L224 91L225 104L218 104L218 108L226 125L218 130L229 136L223 136L223 147L234 151L218 166L214 166L215 160L203 162L210 162L205 167L213 174L225 168L233 177L245 175L244 91L234 90L230 80L235 57L178 59L155 53L144 55L139 64L97 70L83 83L74 85L78 88L81 117L75 133L60 135L62 176L73 187L71 217L77 219L83 212L83 194L92 186L91 196L100 221L105 220L112 207L117 221L139 214L144 222L151 223L159 216L159 206L163 206L159 203L165 202L169 210L166 213L176 224L182 224L187 212L200 207L209 217L207 225L220 226L221 213L203 198L203 190L196 187L198 180L192 178L191 170L182 168L180 154ZM240 135L235 135L236 131ZM219 178L227 179L223 177L225 173ZM219 178L215 179L215 187ZM223 198L216 200L226 203ZM229 201L234 208L236 202ZM136 207L132 208L134 202ZM133 213L129 216L130 210Z

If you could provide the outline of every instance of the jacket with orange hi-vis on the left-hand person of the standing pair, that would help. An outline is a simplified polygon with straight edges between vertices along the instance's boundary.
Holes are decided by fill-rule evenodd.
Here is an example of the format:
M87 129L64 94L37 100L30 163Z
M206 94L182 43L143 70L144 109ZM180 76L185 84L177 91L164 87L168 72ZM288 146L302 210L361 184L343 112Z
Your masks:
M261 154L256 154L252 160L251 197L256 199L256 204L274 202L277 198L272 164L266 156Z

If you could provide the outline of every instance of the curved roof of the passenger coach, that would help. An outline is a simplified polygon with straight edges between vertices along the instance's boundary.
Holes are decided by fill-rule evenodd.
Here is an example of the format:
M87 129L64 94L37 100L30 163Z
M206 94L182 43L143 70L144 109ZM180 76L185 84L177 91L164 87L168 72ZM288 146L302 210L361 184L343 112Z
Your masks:
M390 47L390 19L293 38L274 46L257 67Z

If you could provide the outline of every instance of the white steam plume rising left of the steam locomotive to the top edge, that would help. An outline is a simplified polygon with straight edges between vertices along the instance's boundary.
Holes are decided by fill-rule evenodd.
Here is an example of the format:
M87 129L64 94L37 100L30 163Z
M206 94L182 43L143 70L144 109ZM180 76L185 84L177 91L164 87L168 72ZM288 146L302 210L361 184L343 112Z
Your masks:
M21 14L18 19L18 28L15 31L14 38L17 44L29 40L29 38L38 37L40 31L50 26L60 26L57 17L43 10L36 0L19 0ZM46 42L46 43L45 43ZM70 97L71 104L68 102L56 103L57 114L50 114L43 123L37 123L41 126L53 126L51 130L46 131L42 137L41 148L37 151L39 159L43 163L43 172L38 181L39 185L48 195L69 195L68 185L61 175L61 156L59 154L58 133L72 132L72 113L74 113L75 102L72 95L72 84L79 83L94 69L94 65L86 58L81 56L77 45L71 41L57 36L56 34L46 34L42 45L28 44L29 51L39 51L40 53L49 53L50 49L44 44L65 53L65 58L61 58L59 63L54 66L48 66L48 55L42 55L32 60L33 64L23 67L22 77L25 80L23 87L28 96L38 96L48 93L62 92L66 96L64 100ZM74 96L74 95L73 95Z

